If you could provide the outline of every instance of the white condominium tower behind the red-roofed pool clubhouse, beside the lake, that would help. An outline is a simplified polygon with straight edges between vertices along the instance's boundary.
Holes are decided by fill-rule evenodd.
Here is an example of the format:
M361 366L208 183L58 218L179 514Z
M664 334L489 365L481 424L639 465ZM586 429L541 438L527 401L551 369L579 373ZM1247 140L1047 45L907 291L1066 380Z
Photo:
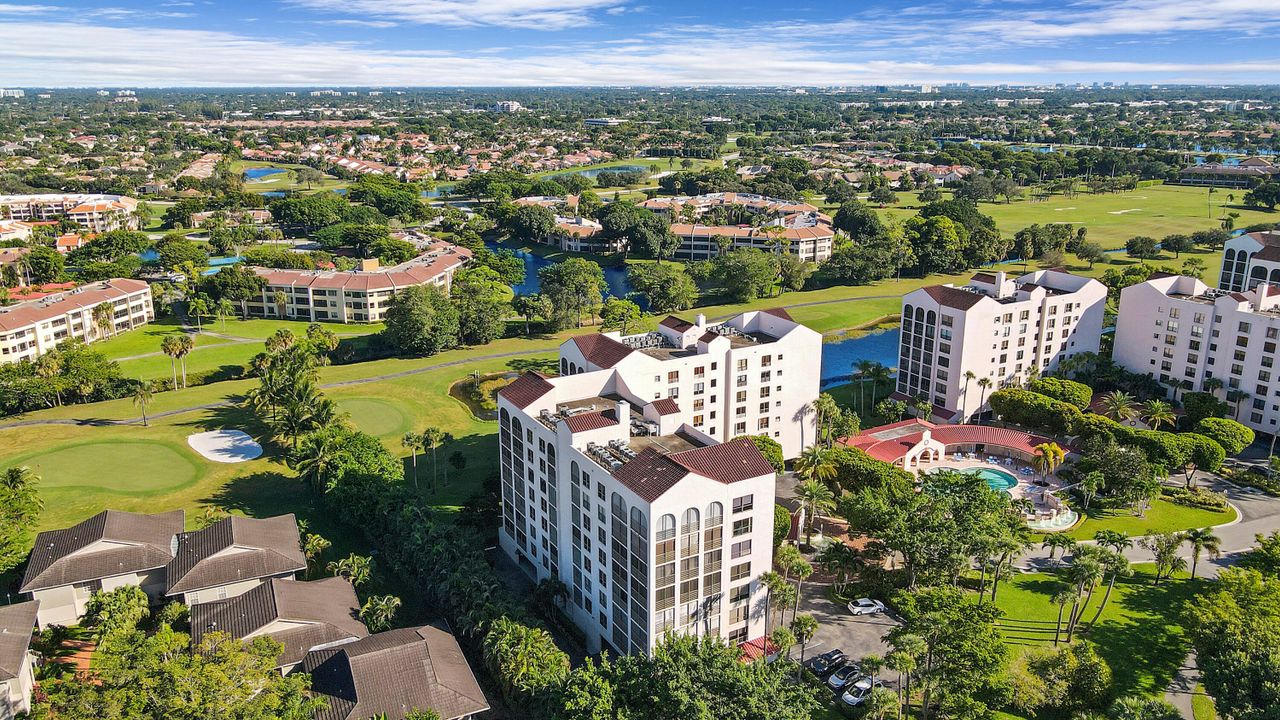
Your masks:
M991 392L1047 373L1062 357L1097 352L1106 301L1106 286L1060 270L1016 279L978 273L964 287L910 292L902 297L897 393L927 397L937 418L963 423L983 411Z

